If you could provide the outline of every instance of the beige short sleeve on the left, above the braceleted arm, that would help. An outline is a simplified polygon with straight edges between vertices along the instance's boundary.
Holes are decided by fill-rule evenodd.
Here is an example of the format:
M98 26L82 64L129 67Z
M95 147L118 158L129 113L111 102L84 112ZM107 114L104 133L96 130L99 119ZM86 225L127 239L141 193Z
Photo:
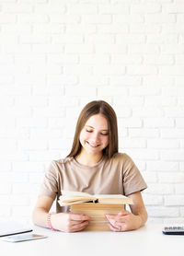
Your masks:
M58 170L55 162L52 161L49 169L46 171L43 182L40 187L40 195L47 195L54 200L58 193Z

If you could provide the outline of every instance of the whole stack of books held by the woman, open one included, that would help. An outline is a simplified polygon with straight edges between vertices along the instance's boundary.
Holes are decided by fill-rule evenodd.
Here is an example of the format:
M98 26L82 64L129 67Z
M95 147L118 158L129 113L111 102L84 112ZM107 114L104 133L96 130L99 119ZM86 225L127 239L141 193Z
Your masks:
M62 192L59 204L70 205L70 211L75 214L85 214L91 217L84 230L109 230L105 214L118 215L125 209L125 204L132 204L132 199L121 194L95 194L86 192Z

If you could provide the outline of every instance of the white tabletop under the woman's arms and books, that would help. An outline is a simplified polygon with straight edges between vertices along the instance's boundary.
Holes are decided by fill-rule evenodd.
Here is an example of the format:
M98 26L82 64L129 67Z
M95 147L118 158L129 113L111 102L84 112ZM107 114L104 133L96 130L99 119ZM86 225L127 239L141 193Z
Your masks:
M0 241L0 255L184 256L184 236L163 235L162 227L162 225L147 224L138 230L121 233L111 231L63 233L33 227L34 233L46 235L48 239L19 243Z

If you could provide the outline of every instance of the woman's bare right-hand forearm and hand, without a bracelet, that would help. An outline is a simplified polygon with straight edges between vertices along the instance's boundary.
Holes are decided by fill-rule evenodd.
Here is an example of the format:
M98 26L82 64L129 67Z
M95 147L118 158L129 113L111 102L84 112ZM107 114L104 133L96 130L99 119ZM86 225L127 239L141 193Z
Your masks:
M147 212L141 192L133 192L131 211L123 211L118 215L106 215L109 220L109 228L113 231L128 231L144 226L147 220Z

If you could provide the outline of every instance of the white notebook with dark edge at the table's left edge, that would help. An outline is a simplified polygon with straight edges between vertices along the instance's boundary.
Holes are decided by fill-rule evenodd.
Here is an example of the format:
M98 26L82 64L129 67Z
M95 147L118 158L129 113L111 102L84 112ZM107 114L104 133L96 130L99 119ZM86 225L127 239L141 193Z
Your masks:
M0 237L31 232L26 225L13 220L0 220Z

